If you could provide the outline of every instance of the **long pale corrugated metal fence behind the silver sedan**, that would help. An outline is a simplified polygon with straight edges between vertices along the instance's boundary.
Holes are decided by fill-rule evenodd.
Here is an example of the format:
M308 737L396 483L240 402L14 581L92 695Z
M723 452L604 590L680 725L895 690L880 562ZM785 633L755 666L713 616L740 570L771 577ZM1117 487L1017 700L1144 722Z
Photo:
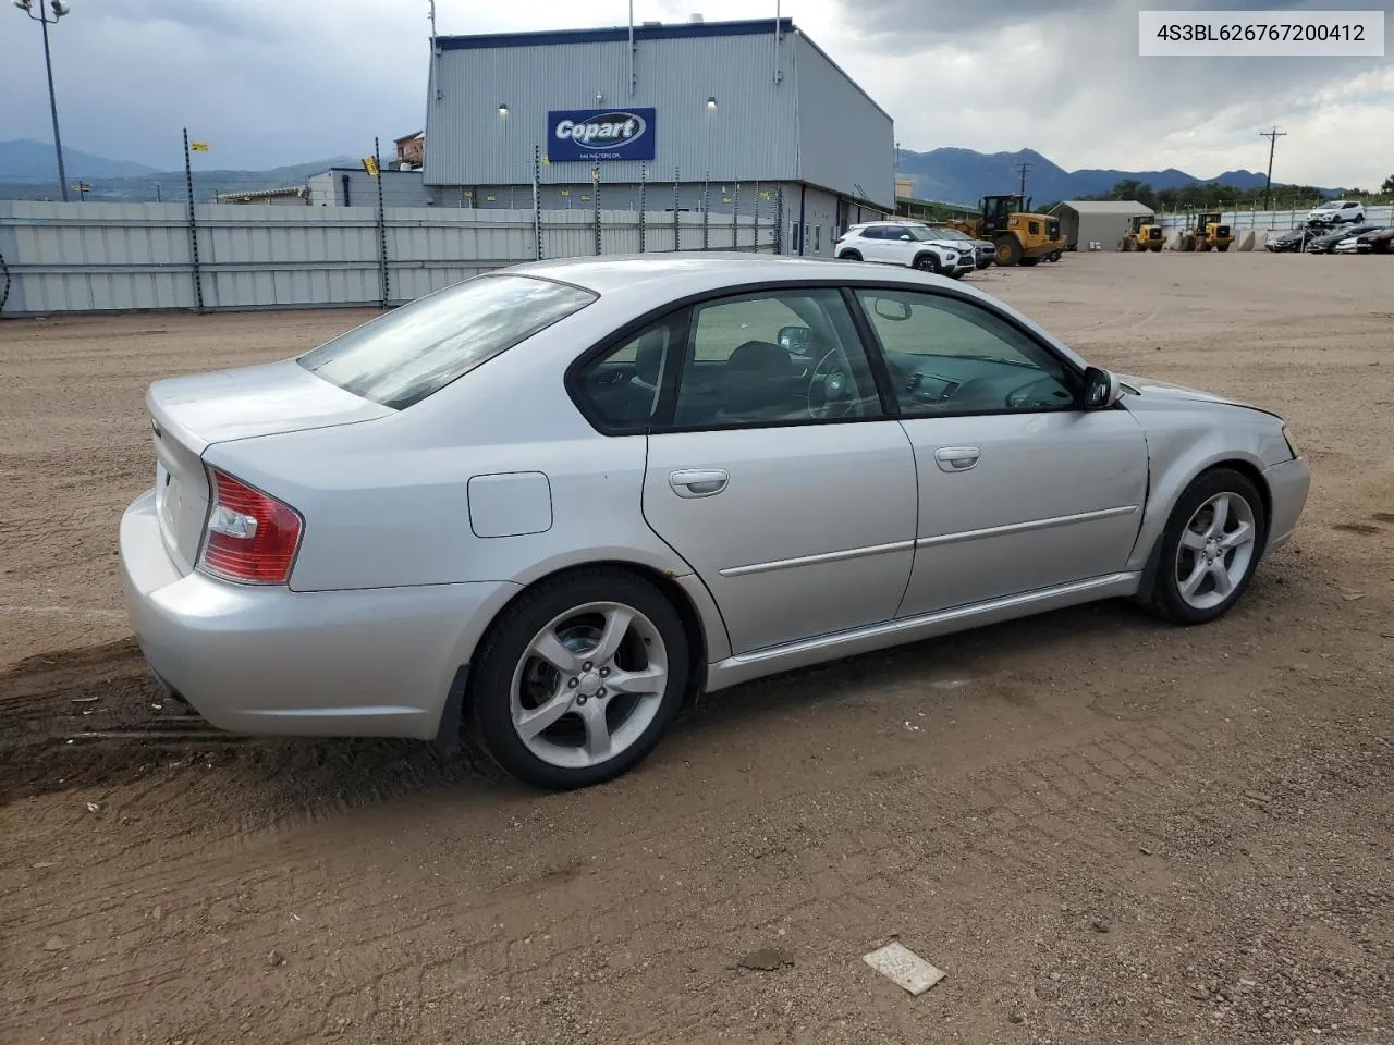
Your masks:
M0 201L3 314L192 309L195 279L208 309L400 304L539 256L778 252L782 222L782 213L388 208L379 229L368 206L209 203L194 208L195 266L184 203ZM6 286L0 270L0 297Z

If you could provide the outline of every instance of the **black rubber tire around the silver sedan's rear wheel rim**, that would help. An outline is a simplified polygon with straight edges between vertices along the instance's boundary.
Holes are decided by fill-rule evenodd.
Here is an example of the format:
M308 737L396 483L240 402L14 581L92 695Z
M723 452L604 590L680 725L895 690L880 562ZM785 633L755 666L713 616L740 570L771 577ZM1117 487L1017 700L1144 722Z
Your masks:
M513 677L528 648L551 621L570 609L612 602L637 610L657 628L668 662L668 679L652 720L637 738L612 758L587 766L555 765L534 754L513 725ZM581 617L579 617L581 619ZM637 634L626 638L626 656L647 656ZM636 652L637 651L637 652ZM512 776L546 790L572 790L604 783L629 772L662 738L682 708L690 677L690 645L677 610L650 581L625 570L588 567L542 581L514 599L491 626L470 666L466 727L474 740ZM598 669L597 669L598 670ZM604 692L604 690L601 691ZM591 699L595 699L594 697ZM604 706L623 722L626 705L616 695ZM583 701L584 702L584 701ZM634 705L637 708L637 702ZM579 713L563 715L556 727L584 732ZM549 726L546 733L552 730Z

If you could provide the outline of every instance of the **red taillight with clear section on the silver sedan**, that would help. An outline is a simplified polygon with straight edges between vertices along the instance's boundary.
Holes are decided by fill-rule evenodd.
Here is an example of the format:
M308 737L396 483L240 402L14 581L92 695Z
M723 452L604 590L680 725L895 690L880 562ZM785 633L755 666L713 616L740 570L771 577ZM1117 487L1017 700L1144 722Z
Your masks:
M213 502L199 567L240 584L284 584L300 546L300 514L216 468L208 477Z

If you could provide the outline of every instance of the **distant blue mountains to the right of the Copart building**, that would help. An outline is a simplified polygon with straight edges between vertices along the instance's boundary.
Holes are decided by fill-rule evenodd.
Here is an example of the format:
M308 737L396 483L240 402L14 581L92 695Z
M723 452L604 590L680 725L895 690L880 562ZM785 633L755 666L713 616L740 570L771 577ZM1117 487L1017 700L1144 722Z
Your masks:
M945 203L976 208L983 195L1020 189L1019 164L1029 164L1026 192L1036 203L1079 199L1108 192L1124 178L1135 178L1154 189L1190 184L1223 183L1235 188L1262 188L1264 176L1252 170L1227 170L1200 178L1184 170L1065 170L1034 149L983 153L973 149L899 150L898 173L914 178L914 195ZM1278 183L1273 183L1277 185ZM1323 189L1333 195L1340 189Z

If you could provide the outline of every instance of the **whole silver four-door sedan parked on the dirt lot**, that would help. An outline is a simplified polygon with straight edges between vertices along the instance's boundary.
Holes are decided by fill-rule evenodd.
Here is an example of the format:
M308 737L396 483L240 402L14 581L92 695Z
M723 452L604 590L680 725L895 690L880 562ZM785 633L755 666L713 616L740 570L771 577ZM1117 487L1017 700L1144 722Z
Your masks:
M701 692L1094 599L1214 620L1309 474L1264 410L945 277L535 262L156 382L135 634L213 726L613 777Z

